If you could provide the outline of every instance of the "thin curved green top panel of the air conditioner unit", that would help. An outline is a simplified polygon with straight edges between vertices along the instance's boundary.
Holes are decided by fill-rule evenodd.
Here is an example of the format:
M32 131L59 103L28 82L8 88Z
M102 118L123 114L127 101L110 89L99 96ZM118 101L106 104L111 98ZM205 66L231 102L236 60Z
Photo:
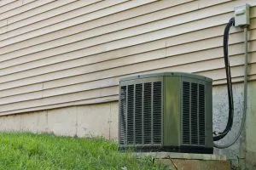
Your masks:
M148 77L189 77L189 78L195 78L195 79L199 79L207 82L212 82L211 78L195 75L192 73L186 73L186 72L158 72L158 73L149 73L149 74L138 74L130 77L121 78L120 82L139 79L139 78L148 78Z

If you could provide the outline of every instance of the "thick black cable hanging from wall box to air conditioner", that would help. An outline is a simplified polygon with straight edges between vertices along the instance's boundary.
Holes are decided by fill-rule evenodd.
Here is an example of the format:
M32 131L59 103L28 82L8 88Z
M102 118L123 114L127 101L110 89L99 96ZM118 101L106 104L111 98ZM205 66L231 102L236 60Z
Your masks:
M213 136L213 141L217 141L219 139L223 139L224 136L229 133L231 127L233 125L233 117L234 117L234 101L233 101L233 89L232 89L232 80L231 80L231 72L230 72L230 59L229 59L229 34L231 26L235 25L235 18L231 18L227 26L224 30L224 64L225 71L227 77L227 88L228 88L228 99L229 99L229 118L227 125L222 133L215 133Z

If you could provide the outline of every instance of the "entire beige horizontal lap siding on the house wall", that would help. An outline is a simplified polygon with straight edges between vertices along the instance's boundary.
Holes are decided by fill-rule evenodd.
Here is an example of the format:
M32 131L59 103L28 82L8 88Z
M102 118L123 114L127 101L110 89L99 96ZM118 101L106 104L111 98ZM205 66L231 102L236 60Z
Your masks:
M256 77L256 2L173 0L0 3L0 115L118 99L120 77L185 71L225 82L222 36L249 3L249 79ZM255 6L255 7L254 7ZM232 77L243 32L230 33Z

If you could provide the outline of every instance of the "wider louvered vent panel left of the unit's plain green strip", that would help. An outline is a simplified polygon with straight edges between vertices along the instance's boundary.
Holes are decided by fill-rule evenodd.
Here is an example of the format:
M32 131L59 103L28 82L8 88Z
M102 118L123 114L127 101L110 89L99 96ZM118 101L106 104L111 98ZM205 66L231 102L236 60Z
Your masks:
M162 82L120 87L119 144L162 143Z

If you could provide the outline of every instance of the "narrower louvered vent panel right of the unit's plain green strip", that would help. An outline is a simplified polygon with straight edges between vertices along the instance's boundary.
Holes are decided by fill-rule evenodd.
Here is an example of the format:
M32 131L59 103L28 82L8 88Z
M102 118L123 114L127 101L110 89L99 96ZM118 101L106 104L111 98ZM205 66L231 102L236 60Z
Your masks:
M183 82L183 144L205 145L205 85Z

